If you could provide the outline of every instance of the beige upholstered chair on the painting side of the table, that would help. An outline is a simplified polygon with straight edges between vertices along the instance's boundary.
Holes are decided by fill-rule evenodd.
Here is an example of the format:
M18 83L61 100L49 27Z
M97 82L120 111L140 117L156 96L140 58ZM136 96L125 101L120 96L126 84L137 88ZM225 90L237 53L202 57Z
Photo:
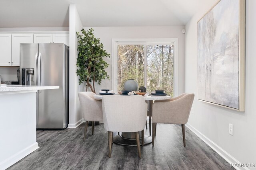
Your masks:
M194 100L193 93L184 93L169 100L156 100L152 104L153 135L152 145L156 134L156 123L181 124L183 145L185 142L185 124L188 123L189 113Z

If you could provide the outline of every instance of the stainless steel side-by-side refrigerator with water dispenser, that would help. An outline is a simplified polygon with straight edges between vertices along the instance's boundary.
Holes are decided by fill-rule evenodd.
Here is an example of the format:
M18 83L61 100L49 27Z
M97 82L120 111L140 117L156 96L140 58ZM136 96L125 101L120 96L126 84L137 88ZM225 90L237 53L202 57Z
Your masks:
M38 129L68 127L68 61L69 48L63 43L20 44L20 85L60 86L36 93Z

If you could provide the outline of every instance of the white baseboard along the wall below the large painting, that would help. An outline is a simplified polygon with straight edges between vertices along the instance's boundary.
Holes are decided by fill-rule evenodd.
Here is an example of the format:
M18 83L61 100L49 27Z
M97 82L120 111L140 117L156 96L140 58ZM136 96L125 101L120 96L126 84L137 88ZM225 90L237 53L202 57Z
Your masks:
M208 137L206 137L204 134L202 134L200 131L198 131L196 128L194 128L190 124L185 124L188 129L190 129L194 134L196 134L202 141L204 141L209 147L211 147L215 152L217 152L222 158L224 158L229 164L241 164L236 158L234 158L232 155L230 155L228 152L226 152L224 149L222 149L220 146L218 146L216 143L211 141ZM249 170L246 167L234 167L237 170Z

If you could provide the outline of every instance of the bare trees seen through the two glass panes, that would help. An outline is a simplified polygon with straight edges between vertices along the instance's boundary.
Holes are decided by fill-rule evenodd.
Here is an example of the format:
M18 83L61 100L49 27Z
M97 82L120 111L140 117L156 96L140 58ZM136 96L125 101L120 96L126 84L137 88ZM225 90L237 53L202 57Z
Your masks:
M118 45L118 91L135 79L147 91L165 90L174 95L174 45L147 45L147 84L144 84L144 45Z

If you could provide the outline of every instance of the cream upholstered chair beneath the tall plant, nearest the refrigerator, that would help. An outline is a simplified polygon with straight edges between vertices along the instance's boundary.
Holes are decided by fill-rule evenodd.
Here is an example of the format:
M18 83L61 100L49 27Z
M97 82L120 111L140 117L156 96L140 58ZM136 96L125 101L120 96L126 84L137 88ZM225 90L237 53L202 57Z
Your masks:
M102 115L102 102L93 98L93 92L79 92L78 97L80 100L82 114L84 115L85 128L84 128L84 141L89 121L92 121L92 135L94 133L95 121L103 121Z

